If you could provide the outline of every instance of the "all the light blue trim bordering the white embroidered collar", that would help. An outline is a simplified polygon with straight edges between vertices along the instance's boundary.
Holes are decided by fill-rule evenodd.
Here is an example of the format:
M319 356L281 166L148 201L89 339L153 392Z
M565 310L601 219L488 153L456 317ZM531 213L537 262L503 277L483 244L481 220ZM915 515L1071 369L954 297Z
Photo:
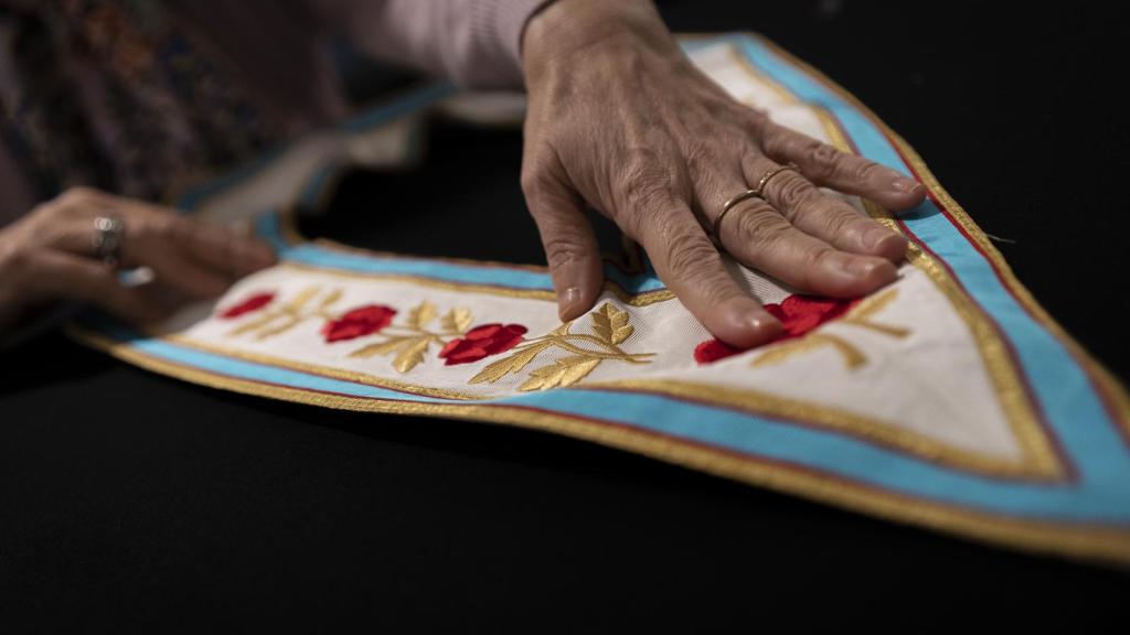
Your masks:
M730 36L718 41L736 44L766 75L802 99L828 108L840 119L863 156L906 172L895 148L863 113L782 60L760 41L746 36ZM409 99L406 103L412 102ZM380 121L379 118L373 118L367 124L373 125ZM810 466L887 490L936 502L1018 516L1130 525L1130 453L1113 427L1114 423L1107 418L1098 402L1086 375L1063 346L1017 304L984 258L931 202L923 203L904 218L911 230L953 268L972 297L1008 333L1038 403L1080 473L1080 482L1036 485L992 479L947 469L842 434L654 394L568 389L521 394L494 403L537 407L633 426L750 455ZM287 246L278 234L275 217L261 220L259 228L275 242L286 260L319 267L406 273L514 288L551 288L549 277L545 273L425 260L370 258L314 245ZM625 288L633 288L632 284L636 284L634 288L640 290L662 288L653 276L632 277L627 281ZM232 359L160 340L137 339L132 333L104 324L101 330L130 342L133 348L148 355L236 377L356 397L416 402L443 401Z

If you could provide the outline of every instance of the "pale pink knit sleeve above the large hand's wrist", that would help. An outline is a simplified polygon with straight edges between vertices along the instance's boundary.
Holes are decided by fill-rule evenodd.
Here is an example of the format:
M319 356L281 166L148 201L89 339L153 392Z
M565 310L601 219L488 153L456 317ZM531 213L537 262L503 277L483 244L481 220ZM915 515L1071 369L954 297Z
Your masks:
M313 0L362 51L472 88L522 87L522 28L549 1Z

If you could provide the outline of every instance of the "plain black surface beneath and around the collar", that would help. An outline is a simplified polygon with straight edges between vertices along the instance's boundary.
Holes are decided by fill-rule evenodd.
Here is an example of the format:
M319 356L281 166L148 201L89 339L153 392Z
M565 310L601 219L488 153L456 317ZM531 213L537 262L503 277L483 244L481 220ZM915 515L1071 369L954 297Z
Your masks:
M999 247L1020 280L1125 381L1120 23L1078 5L991 15L985 5L661 7L683 32L762 32L859 96L1007 240ZM544 262L518 188L518 133L440 123L428 145L418 171L348 177L303 229ZM435 183L443 195L414 207ZM981 610L1054 627L1127 597L1115 571L551 435L231 394L58 333L0 363L5 632L312 630L357 618L711 630L846 614L931 630Z

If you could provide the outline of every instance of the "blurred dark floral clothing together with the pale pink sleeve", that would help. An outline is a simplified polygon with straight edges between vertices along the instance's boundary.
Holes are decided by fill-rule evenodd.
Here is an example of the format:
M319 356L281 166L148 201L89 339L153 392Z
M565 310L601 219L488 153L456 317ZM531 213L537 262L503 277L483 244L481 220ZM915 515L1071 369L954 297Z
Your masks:
M0 225L75 185L160 200L346 114L325 34L521 85L545 0L0 0Z

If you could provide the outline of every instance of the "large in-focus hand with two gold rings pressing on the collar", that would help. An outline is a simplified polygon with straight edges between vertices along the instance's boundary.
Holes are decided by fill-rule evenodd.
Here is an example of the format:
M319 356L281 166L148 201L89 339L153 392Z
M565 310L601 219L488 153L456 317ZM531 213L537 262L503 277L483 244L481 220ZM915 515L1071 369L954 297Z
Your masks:
M557 0L523 35L529 93L522 190L538 225L560 316L601 292L589 205L647 252L659 277L715 337L738 347L781 324L723 268L706 228L733 194L796 163L734 207L721 244L802 292L867 294L893 281L898 234L817 186L893 210L923 200L898 173L774 124L727 95L683 54L650 1Z

